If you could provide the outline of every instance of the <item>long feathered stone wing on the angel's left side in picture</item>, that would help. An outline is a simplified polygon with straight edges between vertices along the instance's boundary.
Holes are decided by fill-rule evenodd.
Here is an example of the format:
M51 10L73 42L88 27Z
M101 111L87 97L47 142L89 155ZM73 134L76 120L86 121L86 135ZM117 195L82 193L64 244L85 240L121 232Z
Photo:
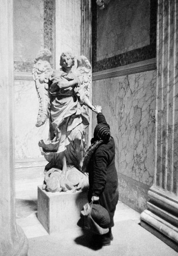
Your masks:
M39 110L36 127L42 126L48 118L50 110L50 98L48 94L49 77L53 72L49 63L51 52L44 49L38 53L33 66L33 80L36 85L36 92L39 100Z

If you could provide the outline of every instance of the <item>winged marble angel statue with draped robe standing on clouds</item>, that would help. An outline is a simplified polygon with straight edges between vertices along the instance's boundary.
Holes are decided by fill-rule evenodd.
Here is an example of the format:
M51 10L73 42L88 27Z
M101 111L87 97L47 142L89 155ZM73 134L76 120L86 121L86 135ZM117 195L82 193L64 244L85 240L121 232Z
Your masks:
M36 126L49 120L49 137L39 141L45 159L44 187L46 190L76 191L86 189L88 177L81 170L86 146L84 134L89 125L87 107L95 110L88 98L91 86L91 64L84 56L74 66L74 55L63 52L60 70L50 66L51 52L38 53L33 67L33 79L39 98Z

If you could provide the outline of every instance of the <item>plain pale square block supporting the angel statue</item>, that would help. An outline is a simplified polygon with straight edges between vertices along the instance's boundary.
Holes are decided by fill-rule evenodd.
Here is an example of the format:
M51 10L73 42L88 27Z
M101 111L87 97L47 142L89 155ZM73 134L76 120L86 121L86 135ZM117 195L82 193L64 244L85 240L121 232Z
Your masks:
M38 219L49 234L77 228L87 192L47 192L38 186Z

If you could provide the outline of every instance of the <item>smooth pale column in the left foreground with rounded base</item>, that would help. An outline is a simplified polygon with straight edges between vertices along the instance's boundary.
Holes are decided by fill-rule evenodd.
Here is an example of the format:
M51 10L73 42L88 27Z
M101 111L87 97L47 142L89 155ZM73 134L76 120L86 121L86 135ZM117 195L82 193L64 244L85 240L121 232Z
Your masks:
M28 242L15 221L12 0L0 0L0 255L25 256Z

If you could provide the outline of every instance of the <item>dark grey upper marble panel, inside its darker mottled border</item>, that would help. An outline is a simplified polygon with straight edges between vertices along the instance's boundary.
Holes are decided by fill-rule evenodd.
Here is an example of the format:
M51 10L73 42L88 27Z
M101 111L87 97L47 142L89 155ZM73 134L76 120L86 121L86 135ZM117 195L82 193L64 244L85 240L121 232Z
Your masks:
M97 11L97 61L149 44L150 0L113 0Z

